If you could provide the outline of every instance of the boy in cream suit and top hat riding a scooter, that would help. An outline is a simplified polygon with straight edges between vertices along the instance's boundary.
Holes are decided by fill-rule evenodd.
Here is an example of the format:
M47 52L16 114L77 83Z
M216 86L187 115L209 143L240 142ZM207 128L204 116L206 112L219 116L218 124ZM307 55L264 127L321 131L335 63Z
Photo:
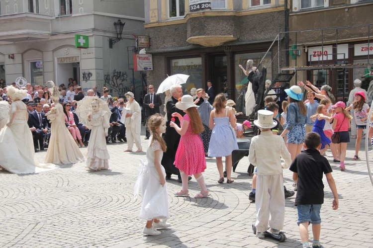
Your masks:
M254 125L260 128L261 134L251 139L249 150L249 162L258 168L255 227L260 239L265 238L266 231L278 235L283 228L285 197L282 168L291 164L291 157L283 139L271 131L271 128L277 125L273 114L269 110L258 111L258 120L254 121ZM268 149L268 144L271 144L271 150ZM283 165L281 157L284 160ZM268 222L270 229L267 230Z

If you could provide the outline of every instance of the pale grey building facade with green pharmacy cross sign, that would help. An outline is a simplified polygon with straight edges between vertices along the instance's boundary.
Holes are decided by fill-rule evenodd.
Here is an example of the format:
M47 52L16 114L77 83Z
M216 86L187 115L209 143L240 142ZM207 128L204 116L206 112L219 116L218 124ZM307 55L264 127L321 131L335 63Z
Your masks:
M110 48L118 19L125 23L122 39ZM140 94L143 78L132 55L143 24L143 0L0 0L0 79L67 85L73 78L85 90Z

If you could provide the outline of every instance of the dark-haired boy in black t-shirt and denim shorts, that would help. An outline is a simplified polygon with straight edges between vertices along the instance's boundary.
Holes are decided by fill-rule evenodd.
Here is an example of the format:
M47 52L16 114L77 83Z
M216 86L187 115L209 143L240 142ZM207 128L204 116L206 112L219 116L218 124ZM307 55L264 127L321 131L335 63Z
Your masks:
M315 132L306 134L302 151L290 165L293 180L298 183L295 206L298 210L298 226L303 248L308 246L308 225L312 223L312 248L320 248L321 204L324 203L323 173L332 190L334 200L332 209L338 209L338 193L328 160L320 155L320 135Z

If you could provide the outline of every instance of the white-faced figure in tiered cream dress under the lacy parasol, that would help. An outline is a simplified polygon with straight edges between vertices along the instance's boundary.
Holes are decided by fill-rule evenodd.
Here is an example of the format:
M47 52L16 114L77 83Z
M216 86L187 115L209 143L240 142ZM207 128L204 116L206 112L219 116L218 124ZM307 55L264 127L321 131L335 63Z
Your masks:
M110 127L106 111L99 109L99 99L91 102L92 113L88 114L88 124L91 129L88 144L87 167L92 170L109 168L109 153L106 148L107 131Z

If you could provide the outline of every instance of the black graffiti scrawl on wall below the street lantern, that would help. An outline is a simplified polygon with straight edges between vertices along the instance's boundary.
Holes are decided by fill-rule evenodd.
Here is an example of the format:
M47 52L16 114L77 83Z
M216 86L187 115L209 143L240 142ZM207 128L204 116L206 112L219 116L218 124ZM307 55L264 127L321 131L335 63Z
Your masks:
M103 76L105 87L112 92L116 92L117 95L123 96L129 91L130 82L127 81L127 72L120 72L113 70L112 74L108 73ZM125 85L128 84L128 85Z

